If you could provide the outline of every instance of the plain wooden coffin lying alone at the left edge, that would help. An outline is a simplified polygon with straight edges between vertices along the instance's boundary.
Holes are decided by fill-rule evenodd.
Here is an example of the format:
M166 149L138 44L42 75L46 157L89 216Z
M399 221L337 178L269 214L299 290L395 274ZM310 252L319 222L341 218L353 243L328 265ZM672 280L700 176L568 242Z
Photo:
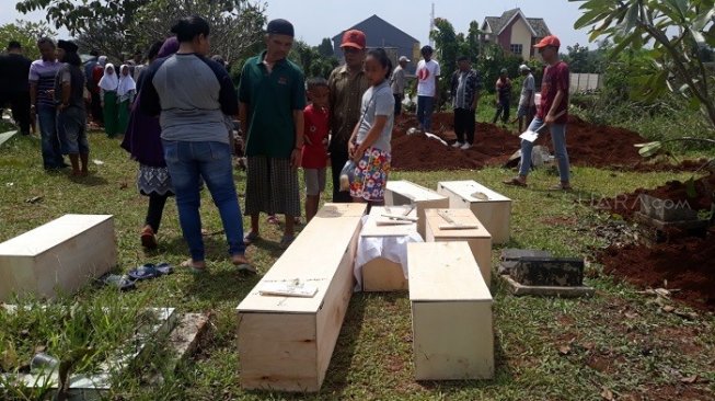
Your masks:
M0 243L0 301L73 293L116 264L113 216L65 215Z

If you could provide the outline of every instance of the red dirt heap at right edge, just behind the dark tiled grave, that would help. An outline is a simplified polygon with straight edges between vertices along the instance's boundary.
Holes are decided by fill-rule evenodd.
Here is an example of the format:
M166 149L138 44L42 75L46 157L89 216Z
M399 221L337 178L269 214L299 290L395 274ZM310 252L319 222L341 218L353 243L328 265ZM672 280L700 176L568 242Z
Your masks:
M687 202L695 210L710 210L713 202L713 191L715 191L715 174L711 174L695 180L694 197L688 196L688 188L680 181L669 181L665 185L655 190L637 188L628 194L621 194L612 198L598 202L593 206L599 209L618 214L624 219L630 220L633 214L641 210L638 195L647 194L660 199L670 199L674 203Z

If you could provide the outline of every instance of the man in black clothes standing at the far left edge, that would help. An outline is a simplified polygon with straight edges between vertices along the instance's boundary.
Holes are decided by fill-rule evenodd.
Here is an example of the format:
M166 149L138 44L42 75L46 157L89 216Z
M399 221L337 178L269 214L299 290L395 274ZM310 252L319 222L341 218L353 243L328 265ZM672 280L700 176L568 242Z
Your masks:
M30 135L30 65L19 42L10 41L8 54L0 56L0 108L10 103L12 118L22 135Z

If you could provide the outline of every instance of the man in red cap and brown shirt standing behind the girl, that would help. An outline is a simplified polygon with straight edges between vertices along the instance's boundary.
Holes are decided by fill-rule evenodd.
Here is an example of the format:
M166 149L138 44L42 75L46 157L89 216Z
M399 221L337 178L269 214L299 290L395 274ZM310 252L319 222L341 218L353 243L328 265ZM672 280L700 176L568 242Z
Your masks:
M343 34L341 48L345 55L345 65L331 72L330 87L330 127L332 131L328 151L333 173L333 202L350 203L353 198L347 191L341 192L341 170L348 160L347 142L353 128L360 118L360 102L370 83L362 70L365 61L365 34L349 30Z

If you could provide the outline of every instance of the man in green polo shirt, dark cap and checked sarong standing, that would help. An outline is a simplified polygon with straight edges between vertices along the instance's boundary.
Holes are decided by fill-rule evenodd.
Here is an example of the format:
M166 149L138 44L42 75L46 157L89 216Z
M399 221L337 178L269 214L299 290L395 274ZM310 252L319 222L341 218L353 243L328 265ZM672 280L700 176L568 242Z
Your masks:
M280 244L287 248L295 238L295 217L300 216L298 167L305 87L303 72L286 58L292 44L292 24L270 21L266 50L247 59L241 73L239 113L247 159L244 213L251 216L246 244L258 239L263 211L286 215Z

